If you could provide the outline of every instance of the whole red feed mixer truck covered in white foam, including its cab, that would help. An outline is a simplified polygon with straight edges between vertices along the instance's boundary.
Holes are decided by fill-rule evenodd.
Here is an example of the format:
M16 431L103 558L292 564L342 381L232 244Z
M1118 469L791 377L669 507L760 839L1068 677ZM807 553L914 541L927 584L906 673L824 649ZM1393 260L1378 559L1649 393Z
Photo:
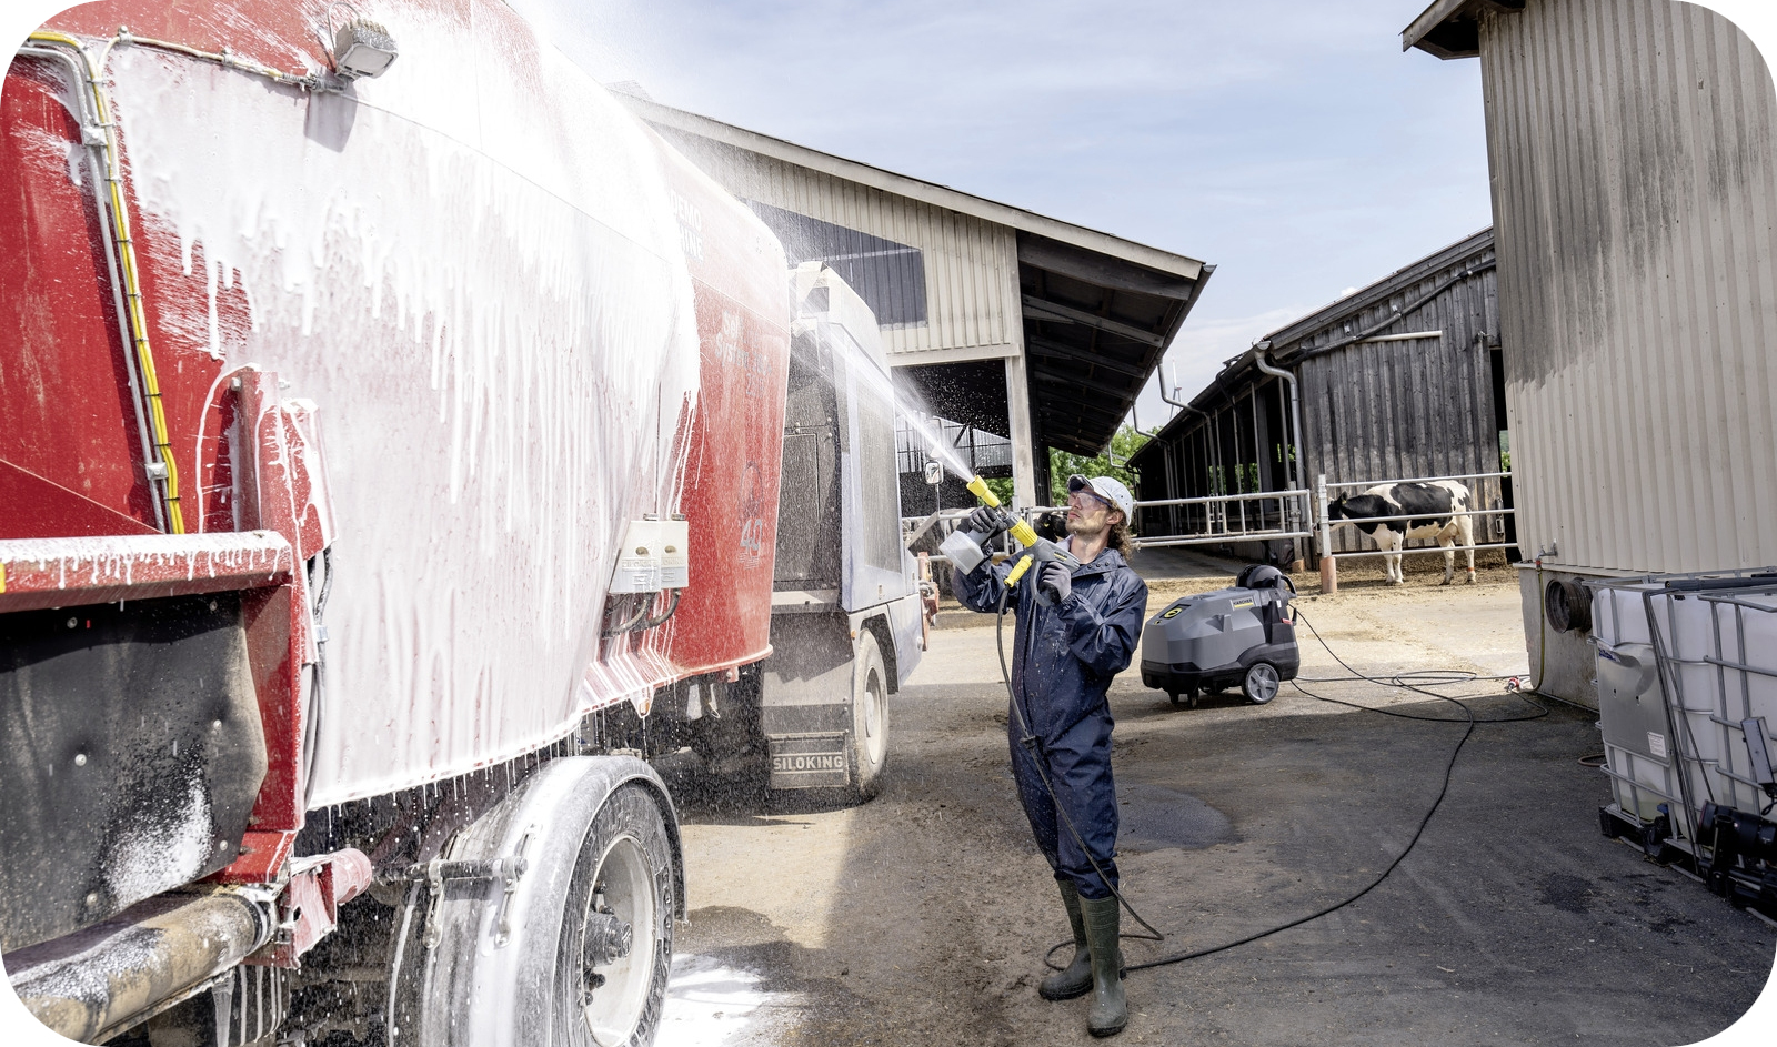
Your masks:
M922 649L869 309L498 0L85 4L0 151L12 990L649 1043L649 761L869 798Z

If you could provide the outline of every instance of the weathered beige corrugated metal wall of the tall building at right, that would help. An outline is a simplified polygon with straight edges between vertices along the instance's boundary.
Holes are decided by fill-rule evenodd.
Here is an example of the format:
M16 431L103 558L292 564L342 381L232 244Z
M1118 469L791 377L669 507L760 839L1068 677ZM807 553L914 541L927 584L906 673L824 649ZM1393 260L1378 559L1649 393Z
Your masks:
M1670 0L1530 0L1480 39L1525 553L1777 562L1770 71Z

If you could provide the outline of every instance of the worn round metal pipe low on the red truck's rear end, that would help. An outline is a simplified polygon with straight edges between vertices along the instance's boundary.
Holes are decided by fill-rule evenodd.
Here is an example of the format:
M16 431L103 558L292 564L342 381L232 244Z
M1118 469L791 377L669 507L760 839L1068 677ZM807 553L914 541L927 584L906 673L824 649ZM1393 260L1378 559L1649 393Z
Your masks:
M39 1022L100 1043L190 997L272 939L272 891L171 892L64 939L5 958L12 990Z

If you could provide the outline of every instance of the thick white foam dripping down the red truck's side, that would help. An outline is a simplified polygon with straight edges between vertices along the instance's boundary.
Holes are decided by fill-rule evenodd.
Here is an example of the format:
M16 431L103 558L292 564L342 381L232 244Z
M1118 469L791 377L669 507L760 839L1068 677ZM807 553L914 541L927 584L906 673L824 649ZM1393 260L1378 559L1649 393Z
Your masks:
M515 21L389 28L400 62L355 101L142 48L108 64L140 240L190 274L153 308L318 404L315 807L537 750L622 697L601 688L659 679L657 652L586 667L617 530L677 508L698 388L647 132Z

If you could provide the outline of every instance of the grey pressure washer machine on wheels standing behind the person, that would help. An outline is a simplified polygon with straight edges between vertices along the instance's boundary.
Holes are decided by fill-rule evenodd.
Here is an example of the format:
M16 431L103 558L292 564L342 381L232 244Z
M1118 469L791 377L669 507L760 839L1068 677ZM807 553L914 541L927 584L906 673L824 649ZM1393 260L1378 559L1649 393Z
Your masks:
M1143 686L1196 707L1198 693L1239 684L1249 702L1263 706L1303 667L1294 597L1288 574L1253 563L1233 588L1175 599L1143 626Z

